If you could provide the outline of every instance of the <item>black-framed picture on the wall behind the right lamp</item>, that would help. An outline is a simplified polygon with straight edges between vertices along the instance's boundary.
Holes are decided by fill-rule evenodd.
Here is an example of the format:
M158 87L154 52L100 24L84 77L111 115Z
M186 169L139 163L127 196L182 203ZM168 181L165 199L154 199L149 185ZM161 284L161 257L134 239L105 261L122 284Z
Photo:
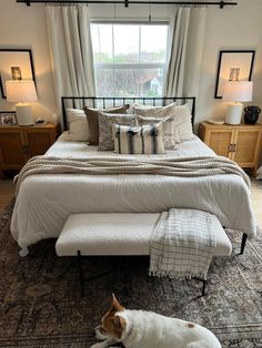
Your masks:
M223 84L226 81L251 81L254 50L220 51L214 98L222 99Z

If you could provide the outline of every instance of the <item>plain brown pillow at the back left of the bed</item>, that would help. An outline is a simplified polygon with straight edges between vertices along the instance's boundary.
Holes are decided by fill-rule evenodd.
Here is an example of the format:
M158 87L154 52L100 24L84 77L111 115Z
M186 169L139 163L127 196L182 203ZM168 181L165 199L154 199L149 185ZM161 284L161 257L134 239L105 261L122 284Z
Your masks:
M89 133L90 133L90 144L98 145L99 144L99 112L104 111L107 113L120 113L125 114L127 110L129 109L129 104L124 104L122 106L115 106L110 109L91 109L85 106L84 113L88 117L89 123Z

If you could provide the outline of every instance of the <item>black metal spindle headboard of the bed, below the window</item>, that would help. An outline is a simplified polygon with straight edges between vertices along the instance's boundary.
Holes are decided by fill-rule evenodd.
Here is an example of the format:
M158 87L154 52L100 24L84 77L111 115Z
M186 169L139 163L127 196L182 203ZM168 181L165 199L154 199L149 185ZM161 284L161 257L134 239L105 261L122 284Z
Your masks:
M163 106L177 102L178 105L188 104L191 109L192 124L194 124L195 96L62 96L63 129L68 130L67 109L114 108L123 104L139 103L142 105Z

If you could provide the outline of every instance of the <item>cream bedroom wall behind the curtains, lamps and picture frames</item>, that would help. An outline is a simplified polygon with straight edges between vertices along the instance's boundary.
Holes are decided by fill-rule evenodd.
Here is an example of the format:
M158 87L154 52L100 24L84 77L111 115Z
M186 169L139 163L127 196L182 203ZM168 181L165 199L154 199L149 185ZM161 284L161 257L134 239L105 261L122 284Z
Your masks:
M204 54L200 94L198 98L196 121L213 115L223 115L225 104L215 100L214 88L220 50L255 49L255 62L252 80L254 81L254 99L252 104L262 106L262 1L238 0L238 7L220 10L209 7L205 33ZM171 7L152 6L151 14L154 19L168 19ZM122 4L90 6L92 18L121 19L139 18L148 20L149 6ZM195 43L198 44L198 43ZM1 48L31 48L39 101L33 103L34 114L51 120L56 111L53 84L47 40L44 6L33 4L26 7L17 4L16 0L0 0L0 47ZM251 103L249 103L251 104ZM0 110L9 110L13 104L0 99ZM262 116L261 116L262 122Z

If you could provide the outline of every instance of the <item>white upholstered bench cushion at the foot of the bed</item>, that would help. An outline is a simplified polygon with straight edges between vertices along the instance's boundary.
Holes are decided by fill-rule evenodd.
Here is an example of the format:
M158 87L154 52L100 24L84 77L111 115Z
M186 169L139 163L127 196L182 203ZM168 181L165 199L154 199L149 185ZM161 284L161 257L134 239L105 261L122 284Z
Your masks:
M150 240L160 214L73 214L56 244L59 256L150 255ZM231 243L215 219L215 256L231 254Z

